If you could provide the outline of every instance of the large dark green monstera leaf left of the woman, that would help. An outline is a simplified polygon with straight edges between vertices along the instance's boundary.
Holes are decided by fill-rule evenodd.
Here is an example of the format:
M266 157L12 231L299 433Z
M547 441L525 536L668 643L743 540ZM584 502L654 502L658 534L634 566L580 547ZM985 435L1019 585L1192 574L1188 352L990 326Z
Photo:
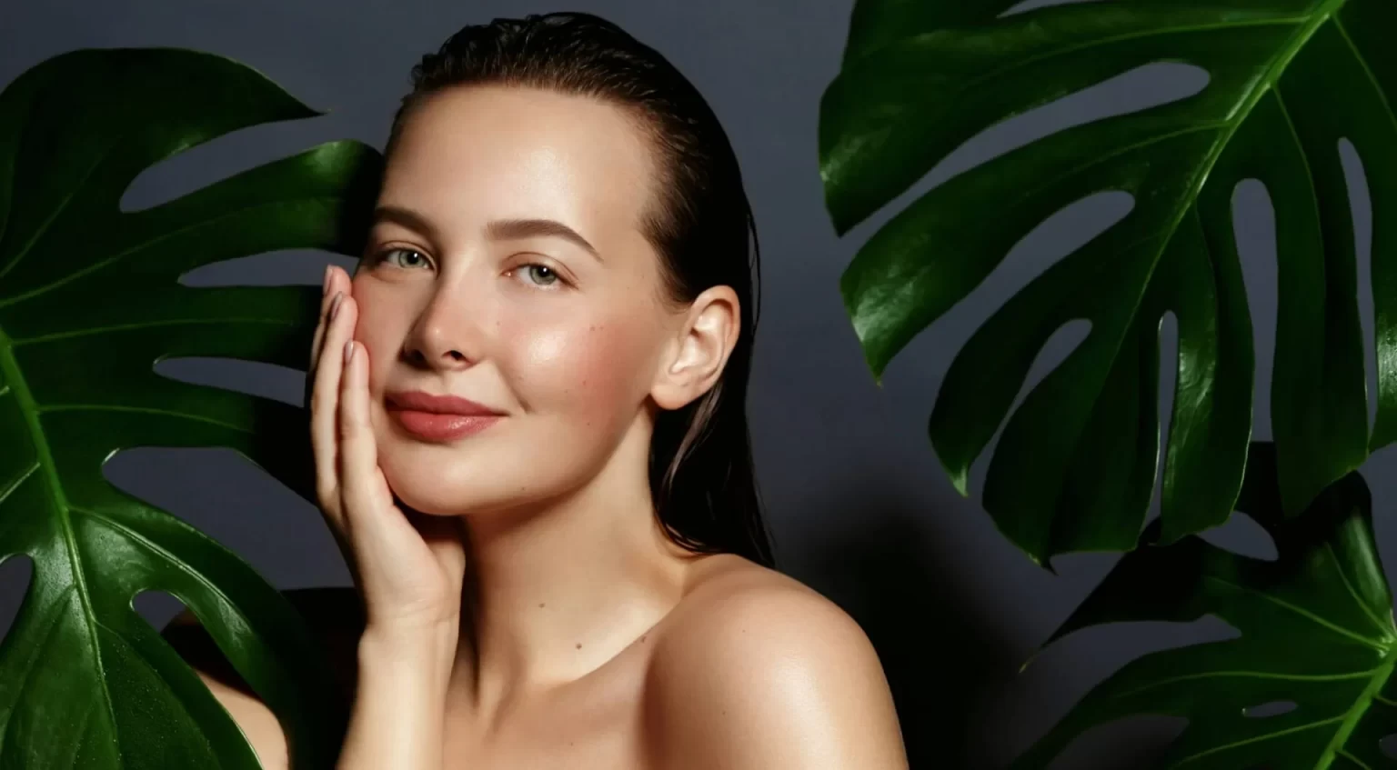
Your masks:
M131 608L168 591L327 767L330 672L296 611L232 552L113 488L136 446L232 447L306 485L298 407L158 376L175 356L305 365L319 291L189 288L292 247L353 253L377 154L324 144L123 212L144 168L236 129L320 115L228 59L81 50L0 94L0 559L34 579L0 643L0 767L257 767L237 725Z

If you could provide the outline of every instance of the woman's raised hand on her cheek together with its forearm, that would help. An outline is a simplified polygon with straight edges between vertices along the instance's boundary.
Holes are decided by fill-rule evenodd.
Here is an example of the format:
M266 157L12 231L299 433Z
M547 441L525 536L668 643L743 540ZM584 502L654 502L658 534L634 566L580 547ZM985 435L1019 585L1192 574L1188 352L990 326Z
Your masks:
M326 271L310 349L316 496L365 601L338 770L440 770L465 546L460 520L395 504L369 421L369 355L349 275Z

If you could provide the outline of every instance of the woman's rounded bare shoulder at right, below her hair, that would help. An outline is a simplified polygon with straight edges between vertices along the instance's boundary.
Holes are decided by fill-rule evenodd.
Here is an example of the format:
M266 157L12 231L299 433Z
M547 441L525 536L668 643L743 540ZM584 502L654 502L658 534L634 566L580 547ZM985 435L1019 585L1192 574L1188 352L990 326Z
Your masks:
M704 570L651 653L655 764L907 767L877 653L848 613L746 559Z

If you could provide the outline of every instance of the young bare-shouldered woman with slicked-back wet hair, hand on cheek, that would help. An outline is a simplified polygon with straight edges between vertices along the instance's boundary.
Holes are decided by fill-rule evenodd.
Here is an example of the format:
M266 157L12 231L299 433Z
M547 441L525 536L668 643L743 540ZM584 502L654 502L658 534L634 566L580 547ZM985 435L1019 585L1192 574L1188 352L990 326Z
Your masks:
M363 608L339 767L905 767L859 626L771 569L756 233L704 99L585 14L467 27L414 84L312 351Z

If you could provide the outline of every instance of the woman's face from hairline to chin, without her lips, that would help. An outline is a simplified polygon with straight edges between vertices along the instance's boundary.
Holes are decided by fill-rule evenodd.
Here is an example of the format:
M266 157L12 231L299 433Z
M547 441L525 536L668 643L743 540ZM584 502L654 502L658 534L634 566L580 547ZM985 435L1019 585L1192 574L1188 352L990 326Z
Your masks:
M404 503L564 495L644 419L687 316L662 300L641 233L652 173L627 113L590 98L453 88L407 117L352 289L379 465ZM394 414L402 391L503 416L423 439Z

